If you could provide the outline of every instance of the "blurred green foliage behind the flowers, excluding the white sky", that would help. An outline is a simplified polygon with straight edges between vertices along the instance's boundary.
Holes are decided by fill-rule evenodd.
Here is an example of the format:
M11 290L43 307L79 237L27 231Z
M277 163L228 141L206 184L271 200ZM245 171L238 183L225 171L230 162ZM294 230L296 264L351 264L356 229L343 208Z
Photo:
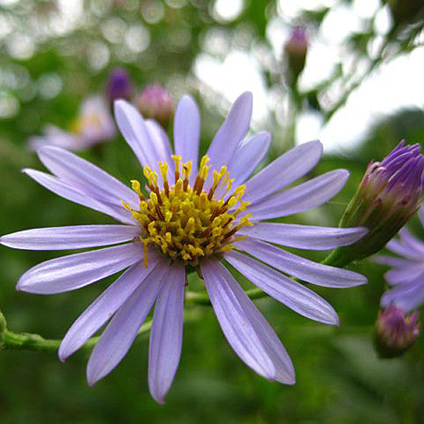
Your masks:
M192 73L194 60L204 52L208 29L225 30L234 41L231 37L240 33L240 28L249 28L253 44L270 50L266 30L272 19L285 25L298 23L278 17L276 2L264 0L242 2L240 13L227 20L218 16L214 2L206 0L69 4L81 6L82 12L68 28L58 17L61 4L55 1L0 1L0 234L112 222L47 192L20 169L41 169L35 155L26 149L28 137L40 134L47 123L69 128L83 98L102 93L113 66L124 66L139 87L159 81L176 96L184 91L194 93L201 106L204 152L223 114L220 103L211 105L204 100ZM330 10L324 6L306 10L302 22L319 28ZM363 32L353 34L347 42L358 58L367 57L367 43L375 36L373 19L367 18ZM411 49L421 28L414 25L404 26L401 33L389 33L388 42ZM269 90L287 90L279 59L271 65L265 61L260 69ZM349 78L339 66L328 81L298 93L297 107L319 110L330 118L331 107L326 109L323 94L331 84ZM346 90L348 87L346 83ZM271 117L274 112L270 110ZM275 119L270 122L266 129L275 135L275 143L268 161L285 150L281 140L293 144L293 137L281 136L283 130ZM382 158L401 138L422 143L423 134L423 110L402 111L376 122L360 148L346 156L325 156L310 174L344 167L351 172L345 189L325 206L287 220L336 226L367 162ZM120 136L82 155L124 182L141 175ZM415 220L412 227L422 232ZM301 253L317 260L324 257L324 252ZM0 247L0 307L11 330L61 338L78 314L113 281L108 278L76 293L54 296L14 290L25 269L53 257L57 252ZM353 269L364 273L369 284L347 290L316 289L338 311L338 328L310 322L272 299L257 301L293 358L297 371L294 387L267 382L245 367L226 343L211 308L198 307L201 319L184 327L182 360L165 406L155 404L148 394L146 338L134 343L122 363L95 387L86 384L87 357L83 353L61 364L51 353L4 350L0 352L0 422L423 423L423 337L404 357L379 360L372 348L372 325L386 269L368 260L354 264Z

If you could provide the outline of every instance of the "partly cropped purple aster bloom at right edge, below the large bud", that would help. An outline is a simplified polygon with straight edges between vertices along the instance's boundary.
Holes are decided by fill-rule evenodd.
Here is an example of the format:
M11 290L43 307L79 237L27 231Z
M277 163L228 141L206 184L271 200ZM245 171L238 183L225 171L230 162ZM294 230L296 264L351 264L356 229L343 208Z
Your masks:
M424 225L424 210L418 215ZM411 311L424 303L424 242L416 239L406 228L399 232L399 238L390 240L387 248L399 257L379 255L375 261L393 267L384 275L391 285L382 295L382 307L396 305L405 311Z

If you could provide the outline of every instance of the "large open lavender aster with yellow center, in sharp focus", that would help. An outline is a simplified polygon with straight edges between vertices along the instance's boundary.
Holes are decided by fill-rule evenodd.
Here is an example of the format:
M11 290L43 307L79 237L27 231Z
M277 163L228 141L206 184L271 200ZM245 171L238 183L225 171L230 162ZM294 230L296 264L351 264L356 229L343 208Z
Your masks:
M346 170L334 170L284 189L317 164L319 141L293 148L254 177L270 136L245 136L252 95L232 105L207 155L198 162L200 116L184 96L175 113L175 155L163 129L124 100L114 103L124 139L146 177L146 192L132 189L61 148L45 146L38 155L52 175L24 172L59 196L106 213L121 225L81 225L25 230L1 237L18 249L105 247L42 262L26 271L18 289L61 293L126 269L73 323L59 348L66 360L108 321L88 360L89 384L105 377L133 343L153 307L148 385L163 402L179 363L186 269L204 278L213 310L235 353L270 380L295 382L295 371L281 341L226 268L231 264L252 283L299 314L338 324L334 309L310 288L289 278L345 288L365 283L353 271L316 264L276 245L333 249L362 237L364 228L322 228L259 220L288 216L318 206L345 184ZM231 178L231 179L230 179Z

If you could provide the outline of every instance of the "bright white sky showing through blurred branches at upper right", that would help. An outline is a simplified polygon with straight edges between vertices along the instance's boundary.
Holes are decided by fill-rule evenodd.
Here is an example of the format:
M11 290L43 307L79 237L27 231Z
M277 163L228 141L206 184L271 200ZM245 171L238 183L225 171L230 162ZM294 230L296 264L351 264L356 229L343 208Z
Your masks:
M283 44L288 39L290 27L286 22L296 20L302 8L313 10L323 5L334 7L327 13L319 33L311 35L307 65L300 79L301 90L312 88L328 78L340 58L346 57L342 60L346 69L355 66L355 69L360 70L366 65L353 63L343 45L351 33L363 30L366 18L377 13L374 29L380 37L387 33L391 25L389 12L381 6L379 0L355 0L352 6L339 4L336 0L281 0L278 2L279 16L270 21L267 29L275 61L278 61ZM242 11L242 0L217 0L214 11L223 20L232 20ZM215 36L213 51L208 53L206 49L206 53L196 60L194 73L202 83L221 93L229 102L235 100L244 90L252 91L254 120L259 126L265 124L267 110L264 105L271 104L272 93L266 92L266 84L259 72L257 54L254 54L251 45L242 49L237 45L234 47L234 43L230 47L224 46L226 48L222 48L222 51L219 48L217 50L217 46L225 45L225 37L222 34ZM381 40L377 36L374 42L370 43L371 55L379 42ZM317 113L300 114L296 142L320 139L325 151L346 153L360 143L375 119L404 107L423 107L423 71L424 47L418 47L411 54L397 57L365 78L348 98L346 105L334 114L326 126L322 127L322 118ZM342 89L334 88L335 97L340 95L337 90Z

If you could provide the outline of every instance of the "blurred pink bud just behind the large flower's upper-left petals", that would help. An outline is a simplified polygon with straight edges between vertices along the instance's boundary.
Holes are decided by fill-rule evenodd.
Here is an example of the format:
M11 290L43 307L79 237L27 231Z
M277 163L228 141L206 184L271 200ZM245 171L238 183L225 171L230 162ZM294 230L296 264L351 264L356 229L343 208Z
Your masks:
M160 84L146 86L136 98L136 105L145 118L152 118L166 126L174 114L170 93Z

